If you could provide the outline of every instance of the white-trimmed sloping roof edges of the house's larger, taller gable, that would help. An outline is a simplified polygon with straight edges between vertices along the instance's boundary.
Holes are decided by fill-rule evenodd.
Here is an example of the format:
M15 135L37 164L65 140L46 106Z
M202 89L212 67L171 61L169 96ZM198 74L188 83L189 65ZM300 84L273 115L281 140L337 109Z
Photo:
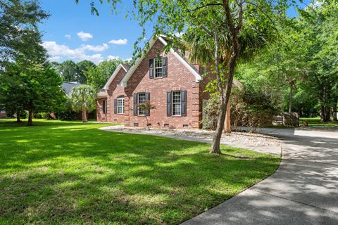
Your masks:
M162 42L162 44L167 45L167 41L165 41L165 36L164 35L160 35L160 37L158 37L158 39L154 39L152 38L149 41L149 49L148 51L151 49L152 46L154 46L155 42L159 40ZM147 51L147 53L148 53ZM177 53L177 51L175 51L173 48L170 48L170 53L172 53L178 60L180 60L180 62L190 71L192 72L192 75L194 75L196 82L201 81L202 77L199 74L199 72L197 72L196 68L194 68L193 65L191 65L190 63L188 63L188 61L180 55L180 53ZM130 70L127 71L127 73L125 74L125 76L123 77L123 79L120 82L120 86L127 86L127 82L130 79L130 77L132 77L132 74L135 72L135 70L139 67L139 64L141 64L142 60L144 60L144 58L146 57L146 54L142 54L142 56L140 58L138 58L136 60L136 62L134 63L134 65L132 65L132 67L130 68Z

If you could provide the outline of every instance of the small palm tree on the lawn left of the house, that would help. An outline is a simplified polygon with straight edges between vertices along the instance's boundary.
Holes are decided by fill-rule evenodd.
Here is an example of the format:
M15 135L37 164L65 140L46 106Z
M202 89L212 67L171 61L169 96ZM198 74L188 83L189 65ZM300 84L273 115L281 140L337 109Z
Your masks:
M82 112L82 122L88 122L87 112L95 108L96 91L93 86L86 84L76 86L70 92L70 101L74 110Z

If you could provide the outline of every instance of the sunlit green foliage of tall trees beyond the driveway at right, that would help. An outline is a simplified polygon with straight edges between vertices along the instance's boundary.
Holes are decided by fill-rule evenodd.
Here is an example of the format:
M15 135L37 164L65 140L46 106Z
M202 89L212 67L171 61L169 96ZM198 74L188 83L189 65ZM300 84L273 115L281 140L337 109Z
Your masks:
M293 112L330 120L338 96L337 1L310 4L291 22L280 27L283 41L241 65L237 78L283 102L284 110L292 103Z

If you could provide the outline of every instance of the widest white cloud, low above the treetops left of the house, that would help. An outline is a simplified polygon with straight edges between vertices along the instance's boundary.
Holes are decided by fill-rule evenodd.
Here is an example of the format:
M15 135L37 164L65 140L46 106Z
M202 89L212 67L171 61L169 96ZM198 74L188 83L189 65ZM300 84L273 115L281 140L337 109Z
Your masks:
M55 41L44 41L42 46L49 53L49 60L61 60L61 58L69 58L75 62L82 60L91 60L93 63L99 64L104 60L103 56L99 53L88 55L85 51L101 50L98 46L81 46L77 49L70 49L68 46L56 44ZM104 46L104 44L102 45ZM91 49L91 50L89 50Z

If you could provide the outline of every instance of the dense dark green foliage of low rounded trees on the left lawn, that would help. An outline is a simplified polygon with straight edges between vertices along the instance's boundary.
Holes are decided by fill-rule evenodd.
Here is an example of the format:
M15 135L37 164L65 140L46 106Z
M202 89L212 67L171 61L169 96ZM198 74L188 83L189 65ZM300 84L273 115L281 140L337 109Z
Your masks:
M15 112L51 113L65 101L61 78L48 64L8 63L0 82L1 103Z

